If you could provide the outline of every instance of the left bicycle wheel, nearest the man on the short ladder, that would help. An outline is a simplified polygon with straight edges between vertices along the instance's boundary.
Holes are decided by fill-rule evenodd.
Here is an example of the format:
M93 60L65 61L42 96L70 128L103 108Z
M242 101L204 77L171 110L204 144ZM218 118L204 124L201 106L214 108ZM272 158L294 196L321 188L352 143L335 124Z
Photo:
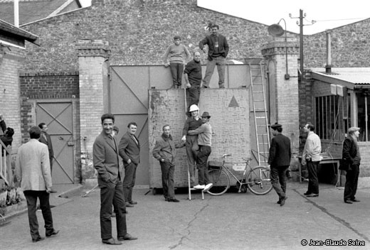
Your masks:
M213 187L207 192L210 195L223 195L230 188L230 178L223 169L208 170L209 181Z

